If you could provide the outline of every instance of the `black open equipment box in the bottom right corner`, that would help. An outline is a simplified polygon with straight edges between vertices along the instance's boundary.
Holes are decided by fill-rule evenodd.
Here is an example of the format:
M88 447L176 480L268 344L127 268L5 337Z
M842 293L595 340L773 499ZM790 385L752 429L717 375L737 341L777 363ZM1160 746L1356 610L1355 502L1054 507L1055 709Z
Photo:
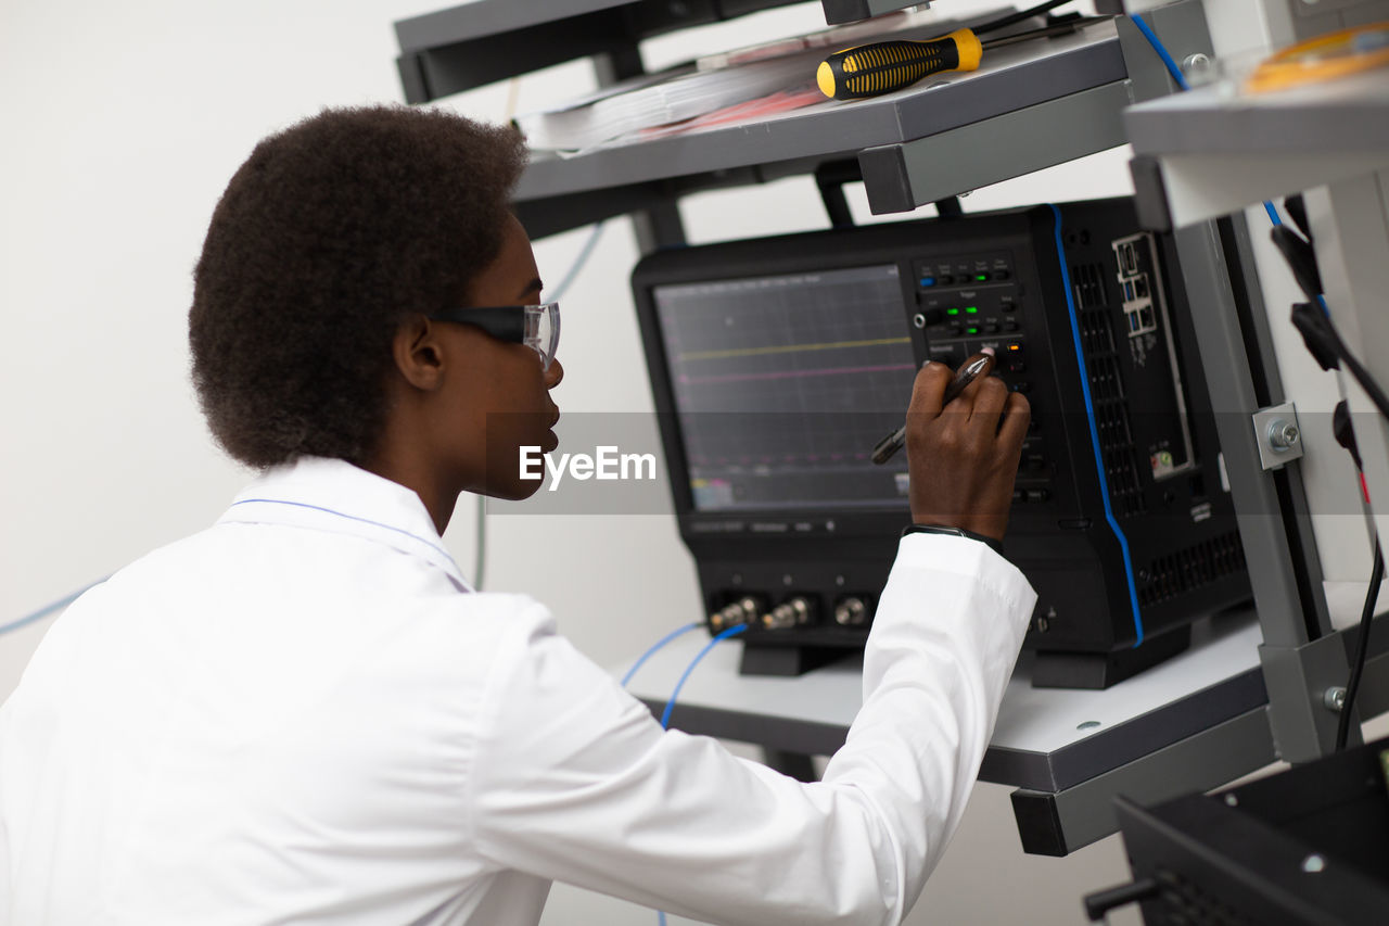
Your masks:
M1139 901L1149 926L1389 922L1386 770L1381 740L1151 809L1120 798L1135 883L1086 898L1090 916Z

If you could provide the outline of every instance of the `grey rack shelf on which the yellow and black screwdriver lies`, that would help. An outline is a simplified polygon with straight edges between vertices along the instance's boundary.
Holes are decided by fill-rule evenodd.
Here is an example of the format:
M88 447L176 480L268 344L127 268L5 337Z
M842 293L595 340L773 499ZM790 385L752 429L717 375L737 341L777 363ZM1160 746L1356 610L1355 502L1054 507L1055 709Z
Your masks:
M542 156L517 189L532 236L640 209L658 196L749 184L854 160L875 213L945 196L1122 145L1131 101L1115 29L999 49L972 74L853 103ZM1025 139L1025 143L1020 143Z

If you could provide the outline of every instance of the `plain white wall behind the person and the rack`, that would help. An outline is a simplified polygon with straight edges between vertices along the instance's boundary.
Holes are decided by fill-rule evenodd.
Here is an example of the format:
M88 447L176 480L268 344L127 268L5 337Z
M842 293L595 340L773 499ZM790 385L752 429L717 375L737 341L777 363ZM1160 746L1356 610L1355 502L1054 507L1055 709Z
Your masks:
M213 206L265 133L325 106L400 100L392 22L442 6L0 4L0 626L206 527L247 481L214 448L188 380L192 268ZM822 25L818 3L801 4L653 42L649 64ZM521 110L536 108L590 79L586 65L564 65L514 90ZM449 104L497 121L508 89ZM1125 160L1118 150L1043 171L965 207L1124 193ZM825 221L808 179L697 196L683 213L696 242ZM585 236L538 242L542 274L557 281ZM628 224L610 222L565 299L565 412L650 409L626 281L635 260ZM549 602L603 665L699 616L668 517L489 524L489 588ZM465 570L472 530L464 502L446 541ZM0 637L0 698L50 623ZM1007 793L978 788L913 923L1079 923L1081 894L1126 877L1117 837L1067 859L1022 855ZM544 922L647 926L654 915L557 886Z

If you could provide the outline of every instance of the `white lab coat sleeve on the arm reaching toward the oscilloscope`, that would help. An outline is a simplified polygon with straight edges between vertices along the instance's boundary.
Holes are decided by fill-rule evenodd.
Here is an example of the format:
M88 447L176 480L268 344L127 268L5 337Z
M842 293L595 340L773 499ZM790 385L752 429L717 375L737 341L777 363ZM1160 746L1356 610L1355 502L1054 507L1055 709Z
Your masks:
M897 923L960 822L1033 603L983 544L903 538L863 708L811 784L663 731L536 605L488 695L465 795L476 848L700 920Z

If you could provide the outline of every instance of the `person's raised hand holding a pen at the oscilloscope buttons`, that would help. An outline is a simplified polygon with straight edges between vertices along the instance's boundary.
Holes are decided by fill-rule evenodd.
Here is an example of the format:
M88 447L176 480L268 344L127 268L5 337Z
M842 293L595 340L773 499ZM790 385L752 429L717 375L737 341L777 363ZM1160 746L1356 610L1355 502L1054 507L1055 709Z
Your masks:
M997 377L979 377L942 409L954 371L917 373L907 409L911 520L1003 539L1032 407Z

